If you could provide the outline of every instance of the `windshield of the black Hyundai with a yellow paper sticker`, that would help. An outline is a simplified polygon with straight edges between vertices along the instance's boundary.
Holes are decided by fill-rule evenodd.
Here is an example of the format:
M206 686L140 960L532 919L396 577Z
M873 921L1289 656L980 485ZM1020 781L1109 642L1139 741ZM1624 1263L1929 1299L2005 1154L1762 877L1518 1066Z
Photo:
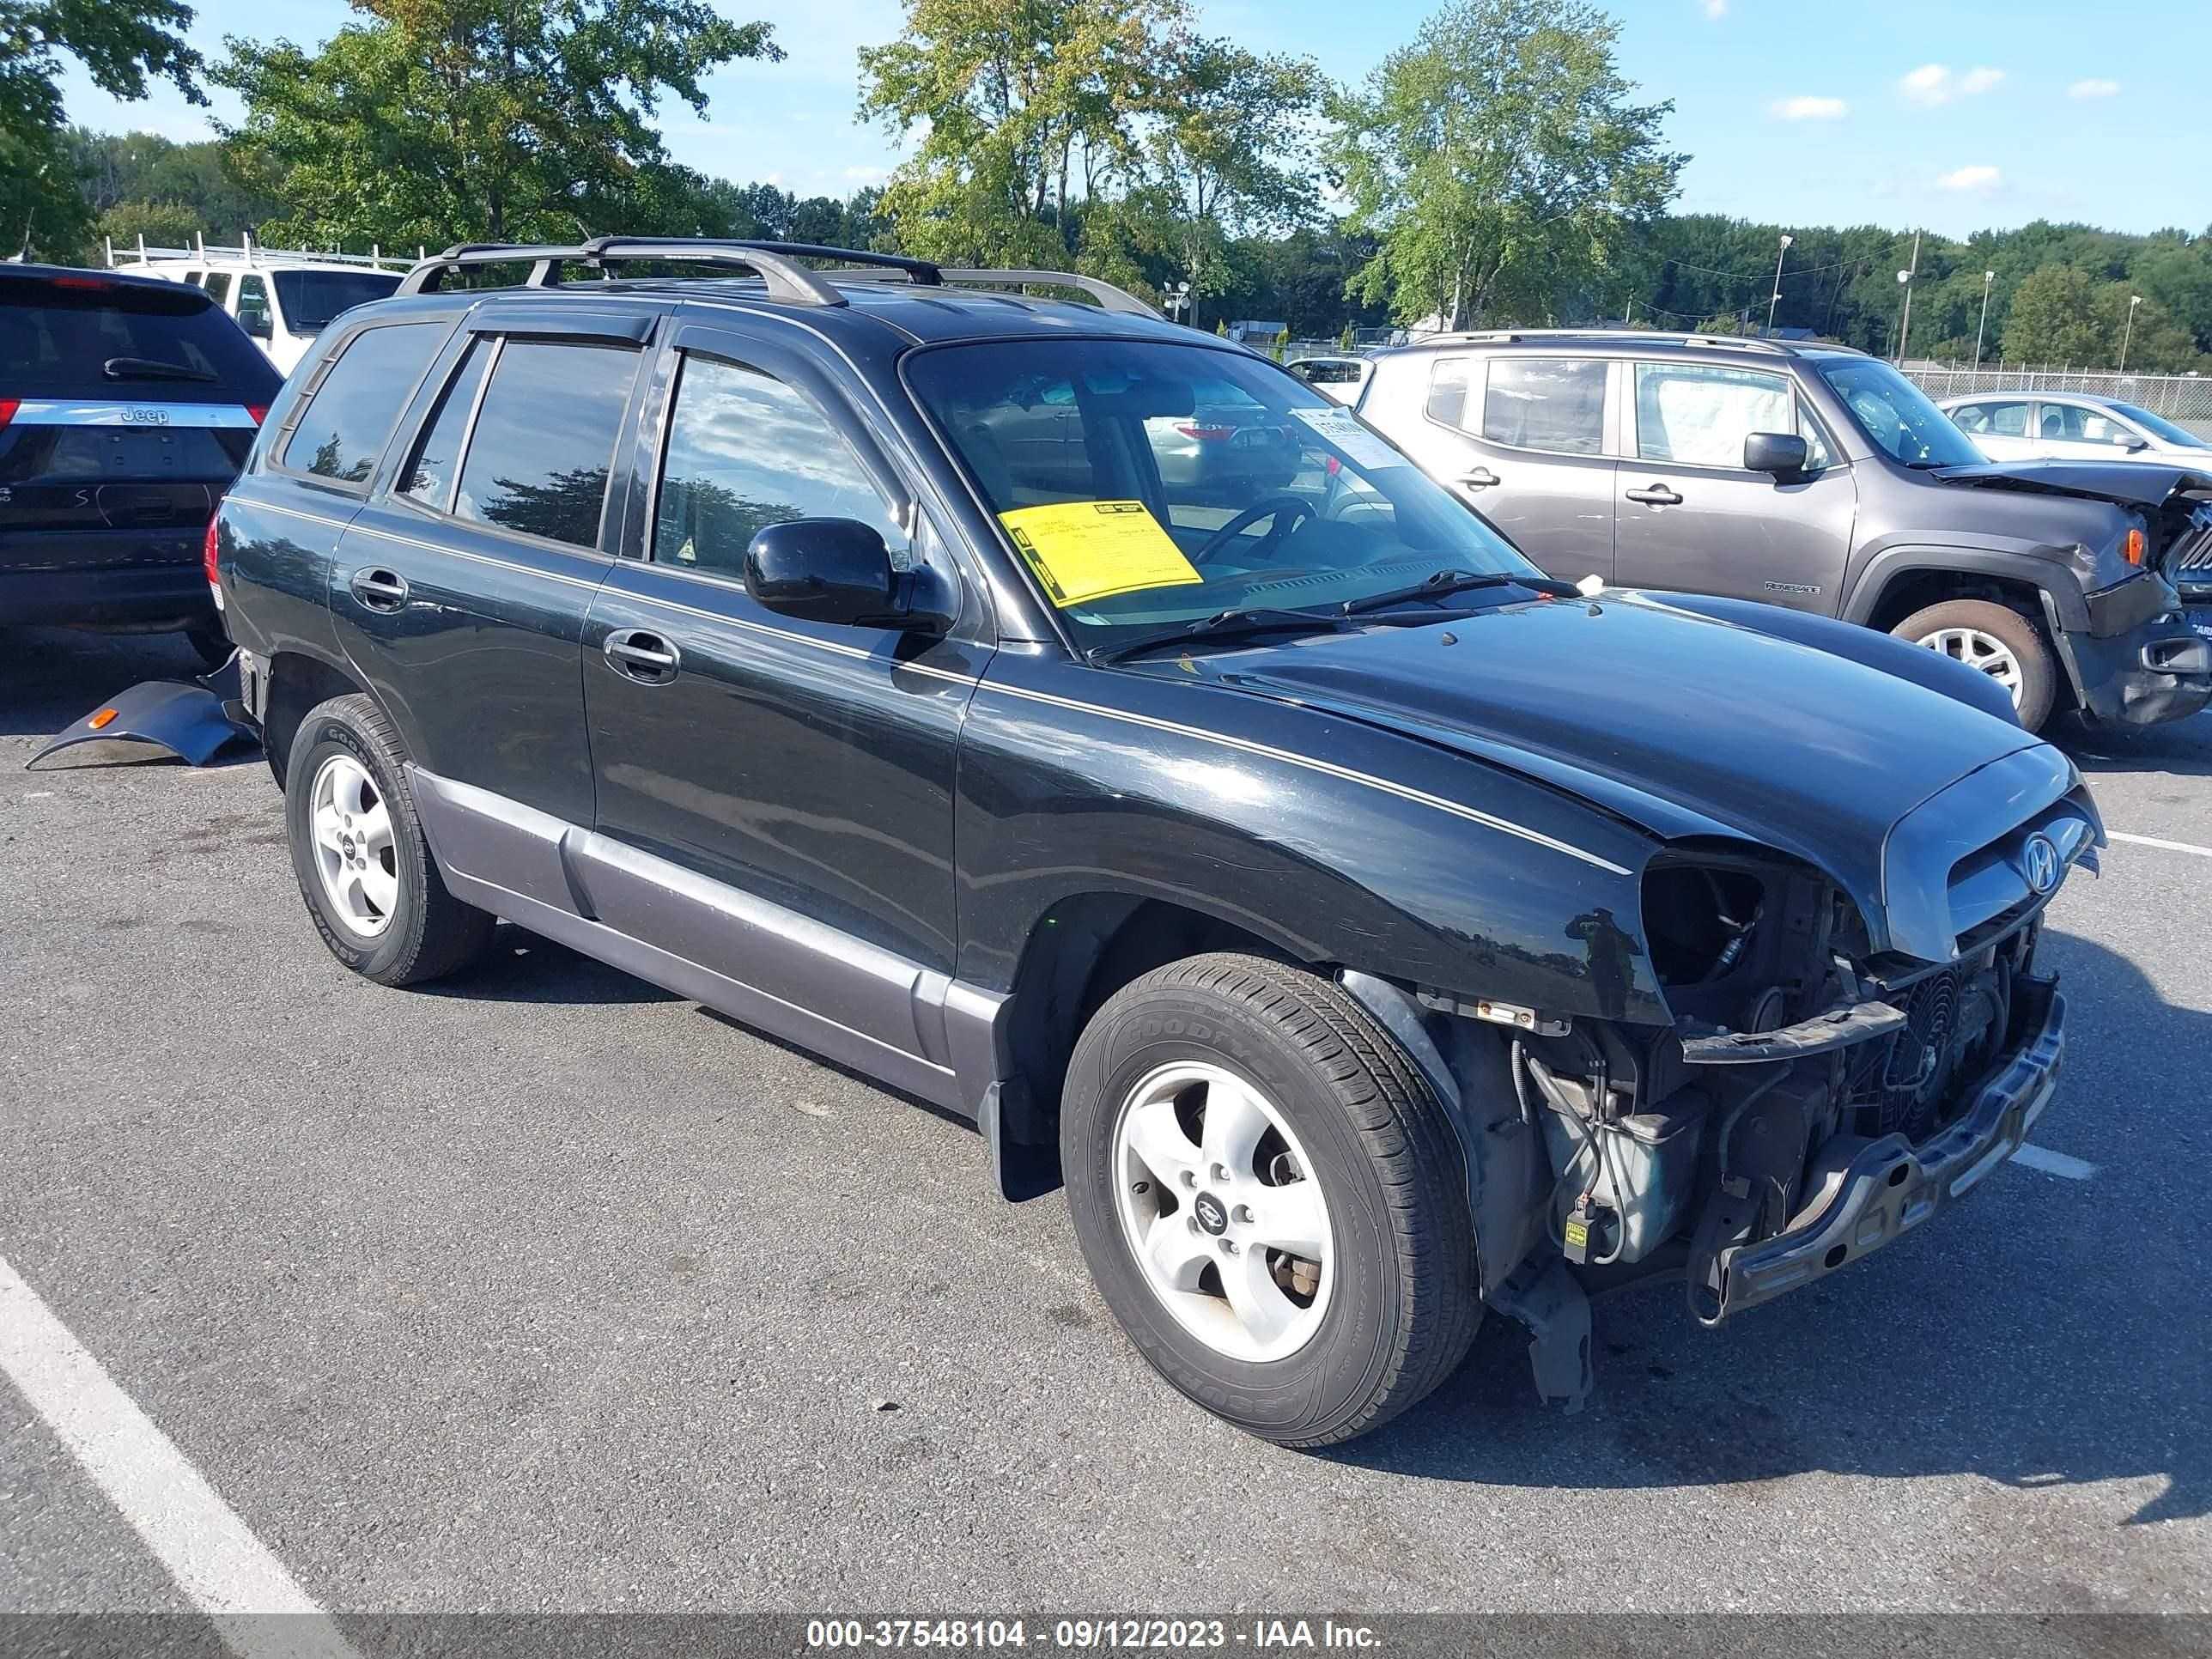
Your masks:
M1544 580L1349 409L1239 352L951 345L909 356L907 383L1086 648L1431 577Z

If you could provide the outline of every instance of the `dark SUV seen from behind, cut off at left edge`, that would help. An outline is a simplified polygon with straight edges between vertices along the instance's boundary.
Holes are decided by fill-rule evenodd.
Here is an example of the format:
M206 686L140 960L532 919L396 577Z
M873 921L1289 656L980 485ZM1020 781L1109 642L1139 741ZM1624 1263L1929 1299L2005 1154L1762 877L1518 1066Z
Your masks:
M0 265L0 628L181 628L223 661L208 522L281 383L197 288Z

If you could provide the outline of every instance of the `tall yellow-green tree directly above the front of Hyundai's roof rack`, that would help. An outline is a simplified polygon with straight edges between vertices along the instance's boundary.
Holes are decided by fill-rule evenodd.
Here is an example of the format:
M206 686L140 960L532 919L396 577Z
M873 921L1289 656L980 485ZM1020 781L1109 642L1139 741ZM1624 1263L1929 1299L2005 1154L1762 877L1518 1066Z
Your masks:
M945 263L1062 265L1084 246L1082 208L1137 177L1139 117L1186 0L905 9L898 40L860 49L860 115L925 128L883 192L900 246Z

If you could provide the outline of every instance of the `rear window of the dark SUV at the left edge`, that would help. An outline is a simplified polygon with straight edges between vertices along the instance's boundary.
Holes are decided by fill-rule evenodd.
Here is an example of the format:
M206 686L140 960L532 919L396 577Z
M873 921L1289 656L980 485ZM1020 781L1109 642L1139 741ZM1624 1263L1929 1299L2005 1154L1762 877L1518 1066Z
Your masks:
M281 383L188 283L0 279L0 392L11 398L265 405Z

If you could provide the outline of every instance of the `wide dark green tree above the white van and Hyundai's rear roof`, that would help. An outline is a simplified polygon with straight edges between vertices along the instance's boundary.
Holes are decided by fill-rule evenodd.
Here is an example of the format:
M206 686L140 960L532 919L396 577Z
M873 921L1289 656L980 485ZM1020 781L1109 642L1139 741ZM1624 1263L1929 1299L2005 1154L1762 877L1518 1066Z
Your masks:
M389 246L688 230L706 181L670 166L664 95L781 58L765 22L703 0L352 0L321 51L228 40L241 177L281 195L272 241Z

